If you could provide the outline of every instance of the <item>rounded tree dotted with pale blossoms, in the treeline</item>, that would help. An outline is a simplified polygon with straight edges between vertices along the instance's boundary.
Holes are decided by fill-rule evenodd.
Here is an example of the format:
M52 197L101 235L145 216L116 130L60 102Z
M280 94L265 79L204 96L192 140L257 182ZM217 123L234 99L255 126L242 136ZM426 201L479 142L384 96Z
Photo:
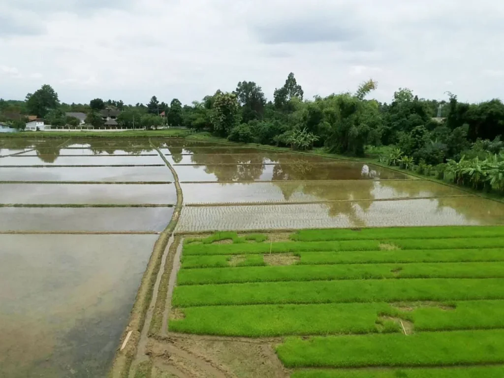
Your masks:
M219 136L229 135L239 123L240 107L236 96L232 93L217 93L212 109L213 132Z

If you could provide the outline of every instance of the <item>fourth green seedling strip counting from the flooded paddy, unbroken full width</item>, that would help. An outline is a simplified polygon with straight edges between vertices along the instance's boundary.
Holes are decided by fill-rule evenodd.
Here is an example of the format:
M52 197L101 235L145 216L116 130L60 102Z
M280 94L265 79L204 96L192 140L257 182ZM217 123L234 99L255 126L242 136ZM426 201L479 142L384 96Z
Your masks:
M383 278L504 278L499 263L293 265L181 270L178 285Z

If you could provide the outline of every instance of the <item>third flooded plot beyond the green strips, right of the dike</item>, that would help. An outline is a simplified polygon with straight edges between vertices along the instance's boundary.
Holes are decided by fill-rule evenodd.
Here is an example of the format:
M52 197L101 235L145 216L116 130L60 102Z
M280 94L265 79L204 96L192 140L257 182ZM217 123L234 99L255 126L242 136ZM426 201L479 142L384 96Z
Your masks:
M407 179L403 173L357 162L281 163L274 165L174 166L180 181L283 181Z

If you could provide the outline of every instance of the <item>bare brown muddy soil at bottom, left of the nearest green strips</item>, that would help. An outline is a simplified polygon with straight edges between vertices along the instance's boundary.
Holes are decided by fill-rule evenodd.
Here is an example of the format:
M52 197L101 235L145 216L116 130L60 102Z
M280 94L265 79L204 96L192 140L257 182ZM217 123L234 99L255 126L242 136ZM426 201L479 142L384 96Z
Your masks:
M147 354L153 362L153 378L282 378L288 371L278 360L271 339L248 342L170 334L150 339Z

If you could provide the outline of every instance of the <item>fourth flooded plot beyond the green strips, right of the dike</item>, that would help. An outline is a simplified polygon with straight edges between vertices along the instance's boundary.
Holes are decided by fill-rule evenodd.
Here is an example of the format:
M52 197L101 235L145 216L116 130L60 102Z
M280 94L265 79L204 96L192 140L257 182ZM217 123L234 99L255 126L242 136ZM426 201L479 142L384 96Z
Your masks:
M166 155L170 164L334 163L335 159L291 153Z

